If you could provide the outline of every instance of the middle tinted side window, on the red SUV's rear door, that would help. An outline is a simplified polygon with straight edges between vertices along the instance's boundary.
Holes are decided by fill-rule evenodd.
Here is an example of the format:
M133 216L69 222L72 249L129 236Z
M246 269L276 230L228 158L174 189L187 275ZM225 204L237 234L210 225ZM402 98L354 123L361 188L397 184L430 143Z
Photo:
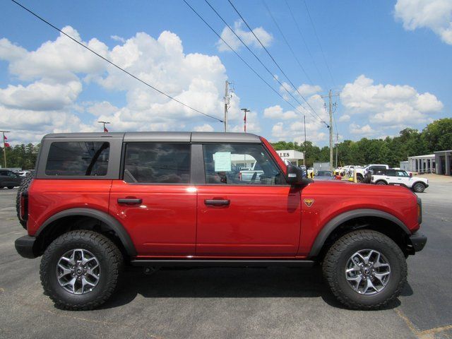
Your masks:
M189 143L129 143L124 180L148 184L190 182Z

